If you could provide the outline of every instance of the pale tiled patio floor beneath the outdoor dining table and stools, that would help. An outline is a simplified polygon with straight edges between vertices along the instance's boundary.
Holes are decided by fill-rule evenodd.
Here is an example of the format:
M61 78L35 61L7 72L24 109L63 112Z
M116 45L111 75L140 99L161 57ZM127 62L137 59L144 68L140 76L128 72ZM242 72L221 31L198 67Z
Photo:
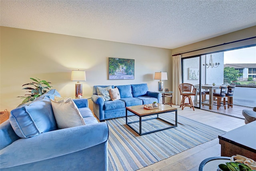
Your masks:
M229 107L229 109L226 106L226 110L225 110L223 106L220 107L219 109L217 109L217 106L214 105L213 109L211 109L211 110L209 109L208 106L202 106L201 109L205 109L205 110L208 110L208 111L213 111L213 112L216 112L216 113L222 113L224 115L230 115L230 116L239 117L239 118L244 119L244 116L242 115L242 110L243 109L252 110L252 107L233 105L233 107Z

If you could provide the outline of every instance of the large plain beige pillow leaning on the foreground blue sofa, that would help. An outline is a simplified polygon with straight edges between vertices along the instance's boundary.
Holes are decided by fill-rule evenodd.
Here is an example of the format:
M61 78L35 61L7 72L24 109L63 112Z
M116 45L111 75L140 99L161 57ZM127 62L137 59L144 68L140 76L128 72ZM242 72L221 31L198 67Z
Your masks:
M85 125L84 119L74 101L69 98L66 101L52 100L52 109L60 129Z

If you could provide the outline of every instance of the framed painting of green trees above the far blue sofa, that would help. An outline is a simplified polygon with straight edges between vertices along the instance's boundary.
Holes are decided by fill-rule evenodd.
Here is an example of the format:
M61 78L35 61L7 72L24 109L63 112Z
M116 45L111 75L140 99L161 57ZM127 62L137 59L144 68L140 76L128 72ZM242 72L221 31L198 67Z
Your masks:
M108 80L134 80L134 60L108 58Z

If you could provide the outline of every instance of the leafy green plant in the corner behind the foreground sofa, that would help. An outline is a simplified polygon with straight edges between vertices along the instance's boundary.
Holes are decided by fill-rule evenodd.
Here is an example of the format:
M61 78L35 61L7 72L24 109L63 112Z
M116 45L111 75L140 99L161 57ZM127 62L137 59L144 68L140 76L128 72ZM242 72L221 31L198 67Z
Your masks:
M46 89L50 89L49 84L51 84L50 82L46 82L45 80L40 80L39 78L30 78L31 80L33 80L34 82L30 82L28 84L24 84L24 85L33 85L35 88L32 87L25 87L23 89L28 89L30 91L31 94L25 94L27 96L18 96L18 97L22 97L21 99L24 99L22 101L22 103L20 105L23 105L24 103L27 103L29 101L34 101L36 99L36 97L39 97L41 95L43 95L44 93L46 93ZM22 85L22 86L24 86ZM20 106L18 105L18 107Z

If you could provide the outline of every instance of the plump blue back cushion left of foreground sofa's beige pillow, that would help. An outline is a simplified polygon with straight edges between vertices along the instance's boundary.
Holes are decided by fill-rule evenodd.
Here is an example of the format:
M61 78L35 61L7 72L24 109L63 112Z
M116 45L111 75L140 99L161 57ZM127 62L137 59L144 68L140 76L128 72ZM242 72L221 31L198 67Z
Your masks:
M13 109L10 112L10 124L21 138L34 137L57 128L52 104L46 95Z

